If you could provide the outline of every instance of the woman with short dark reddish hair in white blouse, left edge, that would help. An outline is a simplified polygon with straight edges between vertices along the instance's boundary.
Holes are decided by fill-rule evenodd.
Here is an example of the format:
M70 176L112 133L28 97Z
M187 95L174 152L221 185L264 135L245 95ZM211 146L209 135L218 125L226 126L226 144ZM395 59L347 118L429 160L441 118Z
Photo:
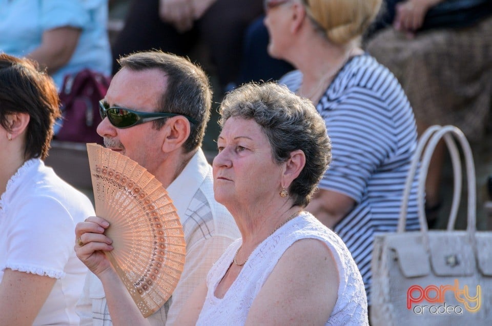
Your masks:
M44 165L60 115L51 77L0 54L0 324L77 325L86 268L75 224L91 201Z

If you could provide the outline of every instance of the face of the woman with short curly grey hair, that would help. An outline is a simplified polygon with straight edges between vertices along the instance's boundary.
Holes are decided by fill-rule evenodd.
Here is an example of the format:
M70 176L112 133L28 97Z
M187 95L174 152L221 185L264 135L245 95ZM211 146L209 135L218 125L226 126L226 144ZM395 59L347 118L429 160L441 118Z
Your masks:
M278 193L272 189L281 189L281 167L273 161L267 137L254 120L229 118L217 138L217 148L213 174L218 202L242 213L260 213L261 203L276 199ZM252 207L251 202L257 202L258 207Z

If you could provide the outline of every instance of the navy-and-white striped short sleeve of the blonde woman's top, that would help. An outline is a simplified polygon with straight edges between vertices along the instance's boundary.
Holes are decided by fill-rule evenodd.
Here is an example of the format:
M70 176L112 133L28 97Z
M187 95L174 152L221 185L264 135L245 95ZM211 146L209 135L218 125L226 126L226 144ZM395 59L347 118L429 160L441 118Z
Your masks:
M359 87L321 113L332 139L333 161L320 188L341 192L360 202L369 179L395 152L391 116L380 98Z

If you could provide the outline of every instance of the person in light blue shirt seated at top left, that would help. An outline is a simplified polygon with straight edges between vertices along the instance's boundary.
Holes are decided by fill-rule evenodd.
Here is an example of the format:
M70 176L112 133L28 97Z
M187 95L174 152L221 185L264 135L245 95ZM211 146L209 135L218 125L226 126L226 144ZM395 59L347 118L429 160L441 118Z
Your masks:
M84 68L109 75L108 0L0 0L0 52L48 68L58 90Z

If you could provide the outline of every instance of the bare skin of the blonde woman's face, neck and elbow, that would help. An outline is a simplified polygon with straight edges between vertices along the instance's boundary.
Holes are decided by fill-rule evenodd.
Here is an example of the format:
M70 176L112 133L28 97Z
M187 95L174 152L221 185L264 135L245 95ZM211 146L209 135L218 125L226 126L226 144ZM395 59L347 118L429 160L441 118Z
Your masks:
M311 99L314 105L347 58L363 53L356 43L340 46L330 43L311 23L299 1L272 8L264 24L270 35L270 55L286 60L302 72L302 84L297 93ZM333 228L354 206L355 200L350 196L320 189L306 210L325 226Z

